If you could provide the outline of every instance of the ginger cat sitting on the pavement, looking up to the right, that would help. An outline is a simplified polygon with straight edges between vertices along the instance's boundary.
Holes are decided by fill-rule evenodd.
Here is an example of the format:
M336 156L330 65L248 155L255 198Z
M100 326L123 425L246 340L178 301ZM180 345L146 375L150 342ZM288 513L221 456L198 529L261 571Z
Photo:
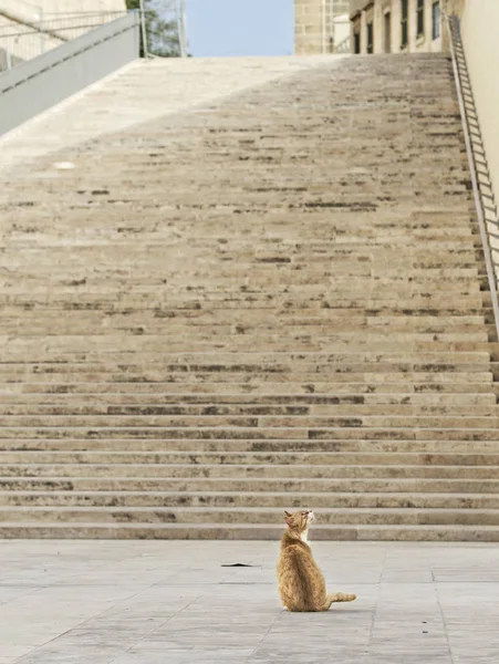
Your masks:
M288 530L282 536L278 562L279 594L288 611L328 611L333 602L353 602L354 594L328 594L324 577L312 556L308 532L313 511L284 512Z

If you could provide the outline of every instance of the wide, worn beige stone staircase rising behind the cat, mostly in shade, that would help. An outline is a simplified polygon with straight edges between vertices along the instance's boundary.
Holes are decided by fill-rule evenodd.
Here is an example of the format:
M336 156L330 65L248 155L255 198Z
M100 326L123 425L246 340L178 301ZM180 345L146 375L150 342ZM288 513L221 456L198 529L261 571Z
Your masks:
M303 62L0 174L0 536L499 540L450 61Z

